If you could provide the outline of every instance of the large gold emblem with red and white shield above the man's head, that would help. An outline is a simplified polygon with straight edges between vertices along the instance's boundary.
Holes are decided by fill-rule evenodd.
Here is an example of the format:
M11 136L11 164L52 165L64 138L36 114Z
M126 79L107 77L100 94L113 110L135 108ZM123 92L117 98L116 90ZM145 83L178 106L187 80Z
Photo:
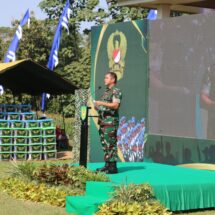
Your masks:
M127 52L127 39L125 34L120 31L112 33L108 39L107 52L109 68L116 73L118 80L120 80L123 78Z

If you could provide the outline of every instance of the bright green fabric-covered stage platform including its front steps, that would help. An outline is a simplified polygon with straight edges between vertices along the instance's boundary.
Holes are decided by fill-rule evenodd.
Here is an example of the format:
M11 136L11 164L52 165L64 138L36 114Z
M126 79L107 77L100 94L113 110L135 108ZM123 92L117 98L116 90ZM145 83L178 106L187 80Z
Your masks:
M102 163L89 163L95 170ZM118 163L119 173L111 182L87 182L85 196L67 196L66 211L91 215L110 198L113 185L149 183L156 195L172 211L215 207L215 171L188 169L157 163Z

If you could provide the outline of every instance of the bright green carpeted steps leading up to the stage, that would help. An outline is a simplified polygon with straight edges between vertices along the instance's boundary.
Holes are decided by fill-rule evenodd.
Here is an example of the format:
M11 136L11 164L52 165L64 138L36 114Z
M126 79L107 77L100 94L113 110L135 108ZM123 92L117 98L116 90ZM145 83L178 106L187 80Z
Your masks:
M98 206L110 199L113 192L112 182L93 182L86 184L85 196L67 196L66 212L77 215L92 215Z

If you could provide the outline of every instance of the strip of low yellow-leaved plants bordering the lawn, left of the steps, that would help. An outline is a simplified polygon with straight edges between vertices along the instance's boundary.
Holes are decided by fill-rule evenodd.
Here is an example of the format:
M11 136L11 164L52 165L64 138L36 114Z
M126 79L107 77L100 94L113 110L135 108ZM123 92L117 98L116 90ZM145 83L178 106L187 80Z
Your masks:
M0 181L0 189L17 199L43 202L53 206L65 207L67 195L81 193L65 191L62 188L48 187L45 184L26 182L18 178L6 178Z

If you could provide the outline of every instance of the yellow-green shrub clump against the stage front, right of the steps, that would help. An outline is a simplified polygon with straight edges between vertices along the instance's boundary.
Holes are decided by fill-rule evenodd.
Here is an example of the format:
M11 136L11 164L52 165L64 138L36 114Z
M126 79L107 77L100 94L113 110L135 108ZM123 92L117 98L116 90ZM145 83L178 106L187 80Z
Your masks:
M170 215L159 201L155 200L148 184L129 184L115 187L112 199L99 207L97 215Z

